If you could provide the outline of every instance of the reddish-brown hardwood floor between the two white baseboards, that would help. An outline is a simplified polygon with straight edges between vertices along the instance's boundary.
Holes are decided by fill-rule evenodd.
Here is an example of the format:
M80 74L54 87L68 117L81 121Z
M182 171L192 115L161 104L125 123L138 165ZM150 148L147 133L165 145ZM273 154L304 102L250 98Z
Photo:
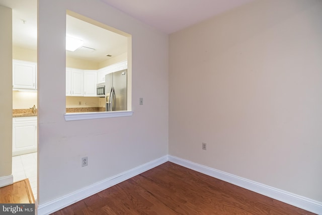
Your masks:
M53 214L314 213L167 162Z

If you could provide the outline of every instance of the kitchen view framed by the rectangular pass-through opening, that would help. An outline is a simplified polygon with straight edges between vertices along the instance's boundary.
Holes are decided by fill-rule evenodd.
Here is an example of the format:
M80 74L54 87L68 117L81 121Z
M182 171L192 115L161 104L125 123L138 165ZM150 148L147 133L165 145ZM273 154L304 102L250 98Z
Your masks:
M131 110L131 35L68 11L66 114Z

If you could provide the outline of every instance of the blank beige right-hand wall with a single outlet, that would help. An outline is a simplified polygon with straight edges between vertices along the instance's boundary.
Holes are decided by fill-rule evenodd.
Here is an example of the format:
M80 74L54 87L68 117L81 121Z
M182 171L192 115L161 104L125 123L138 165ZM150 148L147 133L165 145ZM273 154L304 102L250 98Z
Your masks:
M170 35L169 154L322 202L321 20L259 0Z

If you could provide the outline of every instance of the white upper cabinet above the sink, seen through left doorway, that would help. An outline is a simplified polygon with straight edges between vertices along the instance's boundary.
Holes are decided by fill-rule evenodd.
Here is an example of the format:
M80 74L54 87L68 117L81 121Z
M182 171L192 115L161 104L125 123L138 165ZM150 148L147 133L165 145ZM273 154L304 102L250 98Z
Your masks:
M36 63L13 60L13 88L37 89L36 70Z

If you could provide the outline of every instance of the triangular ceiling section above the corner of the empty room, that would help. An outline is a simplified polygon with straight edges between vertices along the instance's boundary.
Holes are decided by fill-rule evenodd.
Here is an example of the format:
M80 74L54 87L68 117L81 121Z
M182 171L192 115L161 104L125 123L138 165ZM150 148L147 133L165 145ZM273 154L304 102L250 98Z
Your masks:
M101 0L147 25L173 33L253 0Z

